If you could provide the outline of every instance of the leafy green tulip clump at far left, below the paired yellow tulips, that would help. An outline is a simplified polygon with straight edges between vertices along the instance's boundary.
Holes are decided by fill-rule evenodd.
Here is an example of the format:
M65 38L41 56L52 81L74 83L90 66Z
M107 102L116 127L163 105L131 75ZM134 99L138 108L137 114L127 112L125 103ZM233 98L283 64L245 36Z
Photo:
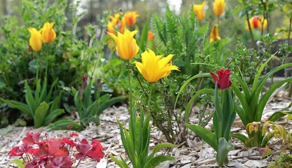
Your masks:
M43 85L41 85L41 80L37 80L36 90L34 90L34 93L27 82L25 82L26 104L15 100L0 99L12 108L19 109L22 113L32 117L36 128L45 126L53 122L57 116L64 113L64 109L58 109L60 106L62 92L60 92L57 97L51 101L53 87L55 87L57 81L58 80L55 80L54 83L50 85L50 90L48 91L47 80L45 79L43 81Z

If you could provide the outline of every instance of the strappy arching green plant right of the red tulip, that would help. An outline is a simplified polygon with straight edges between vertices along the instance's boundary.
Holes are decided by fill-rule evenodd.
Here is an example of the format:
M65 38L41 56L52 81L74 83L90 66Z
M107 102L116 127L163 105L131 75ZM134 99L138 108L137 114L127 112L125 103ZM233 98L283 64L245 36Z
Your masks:
M237 83L232 83L231 88L235 92L241 104L241 106L239 106L238 104L235 105L235 111L237 112L239 118L242 120L244 127L253 122L260 122L263 115L263 110L265 108L265 104L267 104L268 99L270 99L274 91L277 90L277 88L281 87L281 85L285 85L286 83L292 81L292 78L290 77L273 83L270 86L270 89L267 90L267 92L265 92L260 97L260 92L262 92L263 87L267 82L267 79L270 78L270 76L272 76L275 72L281 69L292 66L292 63L277 66L260 79L260 76L265 66L271 59L272 57L267 59L267 61L260 66L260 69L258 69L258 72L256 73L256 76L253 80L253 85L251 89L249 89L246 81L243 80L242 77L232 74L235 79L234 81L237 81L239 85L237 85ZM274 116L273 118L270 118L270 120L275 121L279 117L279 115ZM263 141L264 137L262 136L261 132L247 132L247 134L248 137L244 136L243 134L232 134L231 136L243 141L246 146L263 147L267 143L267 141Z

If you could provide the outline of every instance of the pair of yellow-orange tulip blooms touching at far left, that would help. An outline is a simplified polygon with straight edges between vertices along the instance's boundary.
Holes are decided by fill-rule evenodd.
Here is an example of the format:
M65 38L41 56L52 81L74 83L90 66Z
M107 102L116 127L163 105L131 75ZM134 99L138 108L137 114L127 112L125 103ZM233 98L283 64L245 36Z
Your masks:
M41 50L42 43L51 43L56 38L55 30L53 29L54 23L46 22L39 31L34 27L29 27L29 45L32 50Z

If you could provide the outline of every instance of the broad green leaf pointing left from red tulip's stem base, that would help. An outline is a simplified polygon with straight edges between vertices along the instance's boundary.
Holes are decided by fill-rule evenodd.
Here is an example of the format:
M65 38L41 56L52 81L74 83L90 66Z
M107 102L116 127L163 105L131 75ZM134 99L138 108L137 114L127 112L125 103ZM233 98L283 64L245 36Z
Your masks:
M212 132L209 132L209 130L197 126L197 125L189 125L186 124L186 127L190 130L192 130L193 132L195 132L195 134L197 134L197 136L201 137L207 144L209 144L209 146L211 146L212 148L214 148L215 151L217 151L218 149L218 142L216 139L216 135L213 134Z

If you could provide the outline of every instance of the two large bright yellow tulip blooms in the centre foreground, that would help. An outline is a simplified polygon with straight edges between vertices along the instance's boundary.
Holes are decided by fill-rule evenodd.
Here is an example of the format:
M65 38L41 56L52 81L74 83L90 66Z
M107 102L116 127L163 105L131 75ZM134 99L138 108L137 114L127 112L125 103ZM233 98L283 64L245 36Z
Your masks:
M121 58L130 60L139 51L139 47L134 39L134 34L136 33L137 30L129 31L126 29L123 34L118 32L116 36L108 32L116 42L116 50ZM173 56L168 55L162 58L161 55L155 55L153 50L148 49L148 51L146 50L141 54L141 62L134 62L134 64L136 64L137 69L145 80L153 83L160 80L160 78L168 76L172 70L179 71L177 66L172 65L171 59Z

